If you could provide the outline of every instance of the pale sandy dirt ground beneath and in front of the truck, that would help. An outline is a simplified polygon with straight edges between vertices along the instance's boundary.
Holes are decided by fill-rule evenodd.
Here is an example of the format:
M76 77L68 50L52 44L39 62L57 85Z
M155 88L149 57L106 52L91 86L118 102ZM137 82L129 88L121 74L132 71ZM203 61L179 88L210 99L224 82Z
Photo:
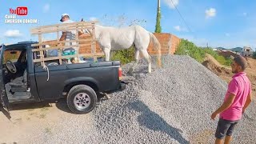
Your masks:
M56 103L29 103L11 106L10 120L0 112L0 144L26 144L47 143L49 138L71 139L70 118L75 120L85 119L82 125L88 126L90 131L90 114L72 114L66 106L66 101ZM79 122L77 122L79 124ZM74 125L74 127L76 127ZM58 133L63 134L58 134ZM66 135L65 135L66 134ZM70 134L71 135L71 134Z

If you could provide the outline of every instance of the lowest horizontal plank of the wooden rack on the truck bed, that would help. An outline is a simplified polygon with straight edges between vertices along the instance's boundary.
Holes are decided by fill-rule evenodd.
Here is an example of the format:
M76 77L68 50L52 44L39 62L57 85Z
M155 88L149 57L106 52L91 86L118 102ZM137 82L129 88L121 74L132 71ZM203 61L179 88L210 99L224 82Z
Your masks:
M65 58L75 58L75 57L92 57L92 56L103 56L103 53L96 53L96 54L73 54L73 55L65 55L65 56L58 56L58 57L50 57L50 58L44 58L44 61L51 61L51 60L56 60L56 59L65 59ZM33 62L42 62L41 59L34 59Z

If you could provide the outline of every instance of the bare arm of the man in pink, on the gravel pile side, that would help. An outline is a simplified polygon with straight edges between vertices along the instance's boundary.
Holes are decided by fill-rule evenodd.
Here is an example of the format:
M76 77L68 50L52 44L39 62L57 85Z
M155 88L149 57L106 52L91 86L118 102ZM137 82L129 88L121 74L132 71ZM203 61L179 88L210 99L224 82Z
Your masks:
M222 111L228 109L232 105L232 103L234 102L235 95L231 93L229 94L230 95L228 96L226 102L223 102L222 106L220 106L218 110L215 110L214 113L211 115L212 119L214 119L217 116L217 114L222 113Z

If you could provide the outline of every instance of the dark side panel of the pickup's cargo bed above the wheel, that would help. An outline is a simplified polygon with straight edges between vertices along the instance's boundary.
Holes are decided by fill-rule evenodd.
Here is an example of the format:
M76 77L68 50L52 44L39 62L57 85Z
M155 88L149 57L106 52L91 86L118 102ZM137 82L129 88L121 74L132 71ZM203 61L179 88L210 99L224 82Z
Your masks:
M60 98L63 91L68 92L70 86L78 82L92 85L94 90L99 92L120 88L119 61L85 62L47 67L49 69L48 81L48 72L42 69L42 66L34 66L34 75L31 74L31 78L35 80L34 83L38 85L38 94L42 99Z

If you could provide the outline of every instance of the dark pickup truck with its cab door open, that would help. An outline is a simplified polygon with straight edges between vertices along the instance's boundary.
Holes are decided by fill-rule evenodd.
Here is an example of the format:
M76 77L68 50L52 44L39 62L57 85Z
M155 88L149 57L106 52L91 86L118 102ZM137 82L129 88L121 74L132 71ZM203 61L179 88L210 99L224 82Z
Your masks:
M46 62L46 70L41 62L33 62L38 52L31 45L36 43L0 46L0 104L7 112L10 103L54 102L66 98L74 114L86 114L94 109L99 93L125 89L119 61Z

